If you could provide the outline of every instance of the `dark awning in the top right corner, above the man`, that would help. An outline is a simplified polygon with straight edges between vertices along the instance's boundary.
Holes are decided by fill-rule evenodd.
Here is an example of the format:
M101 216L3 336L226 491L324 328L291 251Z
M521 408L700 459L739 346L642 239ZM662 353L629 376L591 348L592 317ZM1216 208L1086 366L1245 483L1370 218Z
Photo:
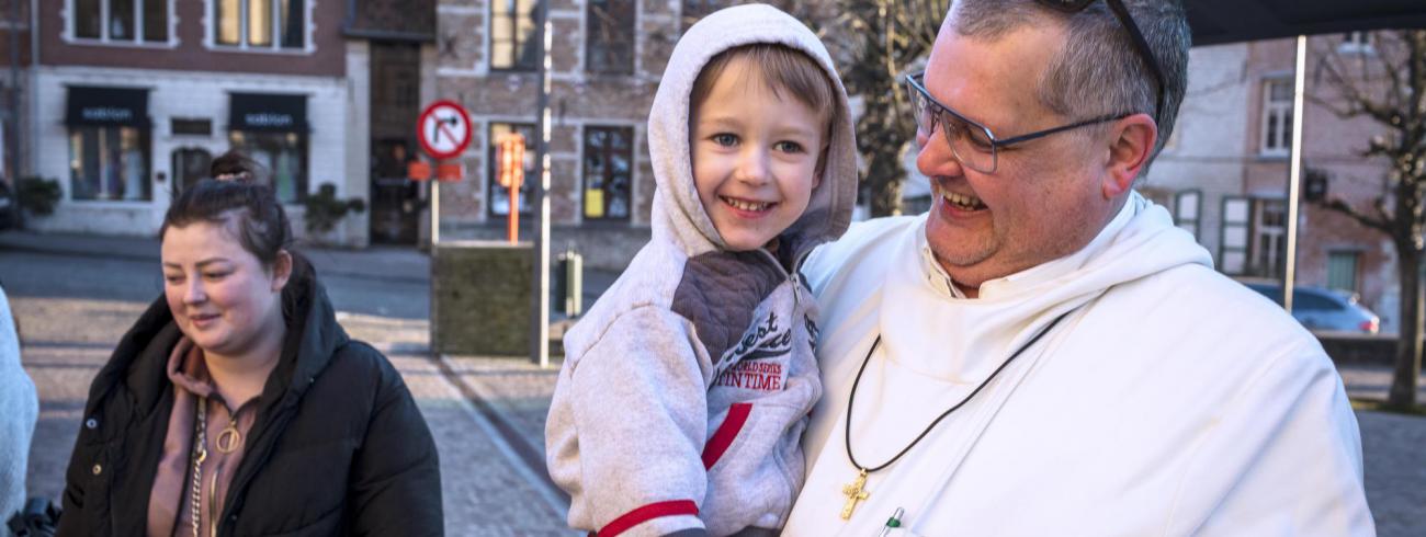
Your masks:
M1184 0L1194 46L1426 28L1422 0Z

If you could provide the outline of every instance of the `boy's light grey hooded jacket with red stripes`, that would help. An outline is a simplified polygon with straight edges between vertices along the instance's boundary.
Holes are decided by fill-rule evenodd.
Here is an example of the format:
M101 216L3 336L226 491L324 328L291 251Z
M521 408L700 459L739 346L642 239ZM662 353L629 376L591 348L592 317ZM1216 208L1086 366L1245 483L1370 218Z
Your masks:
M602 536L780 528L801 489L799 442L821 395L816 303L767 251L726 249L689 158L694 78L720 51L754 43L816 58L837 90L827 105L840 110L821 181L781 235L780 256L800 262L851 219L851 113L817 36L761 4L689 28L649 114L653 239L565 336L545 439L550 476L570 494L572 527Z

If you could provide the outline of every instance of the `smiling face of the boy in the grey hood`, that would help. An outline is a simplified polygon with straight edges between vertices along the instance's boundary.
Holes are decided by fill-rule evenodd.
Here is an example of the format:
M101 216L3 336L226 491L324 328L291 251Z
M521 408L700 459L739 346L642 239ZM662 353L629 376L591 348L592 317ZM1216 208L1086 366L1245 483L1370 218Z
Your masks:
M820 181L827 118L783 94L736 57L693 104L693 184L729 249L761 248L786 231Z

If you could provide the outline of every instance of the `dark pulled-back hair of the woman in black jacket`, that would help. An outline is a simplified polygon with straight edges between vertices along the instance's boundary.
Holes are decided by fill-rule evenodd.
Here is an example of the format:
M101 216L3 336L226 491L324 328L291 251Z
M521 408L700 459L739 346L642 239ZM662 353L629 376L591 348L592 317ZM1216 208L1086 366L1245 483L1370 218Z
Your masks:
M265 268L271 268L278 254L292 244L292 226L282 204L271 188L251 181L198 181L168 205L158 239L163 241L168 228L194 222L231 222L242 249L255 255Z

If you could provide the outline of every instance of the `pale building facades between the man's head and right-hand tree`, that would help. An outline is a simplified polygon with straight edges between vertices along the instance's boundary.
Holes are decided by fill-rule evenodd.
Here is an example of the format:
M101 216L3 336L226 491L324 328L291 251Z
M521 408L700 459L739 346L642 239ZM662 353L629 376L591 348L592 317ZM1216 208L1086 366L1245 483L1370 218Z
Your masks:
M1380 127L1342 120L1322 104L1333 91L1320 64L1329 54L1375 54L1370 36L1318 36L1308 50L1305 170L1326 178L1329 195L1368 207L1387 165L1360 154ZM1178 127L1141 185L1228 275L1281 278L1283 269L1295 51L1291 38L1194 48ZM1399 293L1386 236L1309 202L1298 232L1298 285L1359 293L1383 330L1393 330Z

